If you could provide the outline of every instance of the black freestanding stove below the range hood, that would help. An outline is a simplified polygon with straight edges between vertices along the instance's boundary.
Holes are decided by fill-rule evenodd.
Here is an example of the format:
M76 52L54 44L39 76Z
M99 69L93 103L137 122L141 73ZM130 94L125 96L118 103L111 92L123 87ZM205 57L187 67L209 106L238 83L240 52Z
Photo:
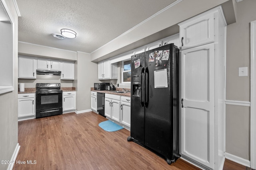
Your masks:
M36 83L36 118L62 114L60 83Z

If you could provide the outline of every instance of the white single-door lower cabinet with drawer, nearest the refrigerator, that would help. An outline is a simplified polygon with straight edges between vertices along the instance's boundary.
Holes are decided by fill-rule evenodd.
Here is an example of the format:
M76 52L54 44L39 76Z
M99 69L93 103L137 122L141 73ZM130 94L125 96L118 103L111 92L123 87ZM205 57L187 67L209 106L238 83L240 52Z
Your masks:
M121 96L121 124L131 125L131 98Z

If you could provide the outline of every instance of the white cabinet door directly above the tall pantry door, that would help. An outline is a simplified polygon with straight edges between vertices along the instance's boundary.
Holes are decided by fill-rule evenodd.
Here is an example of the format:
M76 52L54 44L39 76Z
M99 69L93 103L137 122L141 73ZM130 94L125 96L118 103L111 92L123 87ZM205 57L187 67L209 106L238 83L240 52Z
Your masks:
M199 15L180 26L181 49L214 42L214 13Z

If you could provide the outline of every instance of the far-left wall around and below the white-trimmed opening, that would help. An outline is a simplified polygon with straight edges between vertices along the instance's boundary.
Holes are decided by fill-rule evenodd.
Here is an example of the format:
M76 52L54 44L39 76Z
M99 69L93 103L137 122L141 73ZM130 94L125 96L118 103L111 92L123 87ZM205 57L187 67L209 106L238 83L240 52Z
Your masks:
M13 1L5 2L14 19L14 91L0 94L0 160L11 160L18 144L18 16ZM1 170L7 168L8 164L0 164Z

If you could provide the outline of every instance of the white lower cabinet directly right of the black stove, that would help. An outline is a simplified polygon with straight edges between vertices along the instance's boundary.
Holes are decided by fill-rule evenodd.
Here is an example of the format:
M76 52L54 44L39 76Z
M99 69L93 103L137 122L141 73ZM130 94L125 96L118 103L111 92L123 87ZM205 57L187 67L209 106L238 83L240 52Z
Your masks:
M76 109L76 92L63 92L62 94L63 111L71 111Z

